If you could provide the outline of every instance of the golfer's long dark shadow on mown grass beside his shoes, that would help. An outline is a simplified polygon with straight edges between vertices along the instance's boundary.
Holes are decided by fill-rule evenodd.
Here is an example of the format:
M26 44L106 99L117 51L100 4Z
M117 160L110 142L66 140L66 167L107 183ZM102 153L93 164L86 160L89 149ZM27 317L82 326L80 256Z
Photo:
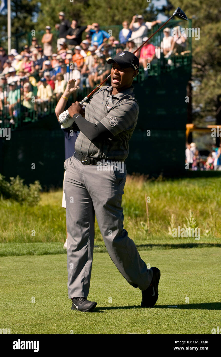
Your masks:
M141 308L140 305L133 306L105 306L96 307L94 312L104 312L100 310L122 310ZM202 302L199 304L183 304L183 305L155 305L153 308L160 309L179 309L179 310L221 310L221 302Z

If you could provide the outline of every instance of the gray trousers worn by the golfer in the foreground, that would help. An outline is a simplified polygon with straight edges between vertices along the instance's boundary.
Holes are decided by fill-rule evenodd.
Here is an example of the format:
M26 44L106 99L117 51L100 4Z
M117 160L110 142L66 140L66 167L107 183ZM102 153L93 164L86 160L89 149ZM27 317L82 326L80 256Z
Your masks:
M145 290L150 285L153 272L147 269L123 228L121 201L127 176L125 165L124 173L115 169L100 171L98 165L85 166L73 155L65 160L64 169L68 297L87 298L89 293L95 214L115 266L130 285Z

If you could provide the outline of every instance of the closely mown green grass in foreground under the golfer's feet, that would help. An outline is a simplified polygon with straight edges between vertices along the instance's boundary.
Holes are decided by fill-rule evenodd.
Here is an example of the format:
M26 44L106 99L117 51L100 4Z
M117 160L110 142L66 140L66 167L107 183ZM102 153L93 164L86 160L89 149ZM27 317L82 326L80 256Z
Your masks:
M140 255L161 270L157 305L140 308L141 291L124 280L108 253L95 252L88 298L98 305L91 313L71 310L64 254L1 257L0 328L11 328L12 334L210 334L221 326L221 248L153 249Z

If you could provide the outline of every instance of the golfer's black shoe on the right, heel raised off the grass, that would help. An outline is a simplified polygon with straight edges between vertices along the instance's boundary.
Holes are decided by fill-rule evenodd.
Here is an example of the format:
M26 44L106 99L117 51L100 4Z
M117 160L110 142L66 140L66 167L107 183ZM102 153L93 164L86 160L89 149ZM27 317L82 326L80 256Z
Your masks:
M158 299L158 284L160 280L160 271L156 267L150 268L153 271L153 278L150 286L146 290L142 290L142 307L153 307Z

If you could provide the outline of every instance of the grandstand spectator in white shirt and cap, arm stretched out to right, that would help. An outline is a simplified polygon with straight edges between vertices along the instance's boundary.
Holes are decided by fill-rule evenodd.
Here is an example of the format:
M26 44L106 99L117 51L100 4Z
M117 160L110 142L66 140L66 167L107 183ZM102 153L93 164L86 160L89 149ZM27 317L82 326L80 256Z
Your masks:
M144 22L144 18L142 15L134 15L132 21L130 22L129 29L132 31L131 38L134 40L135 45L141 45L142 38L147 36L148 29L151 29L152 26L158 23L161 23L161 21L155 20L152 22Z

